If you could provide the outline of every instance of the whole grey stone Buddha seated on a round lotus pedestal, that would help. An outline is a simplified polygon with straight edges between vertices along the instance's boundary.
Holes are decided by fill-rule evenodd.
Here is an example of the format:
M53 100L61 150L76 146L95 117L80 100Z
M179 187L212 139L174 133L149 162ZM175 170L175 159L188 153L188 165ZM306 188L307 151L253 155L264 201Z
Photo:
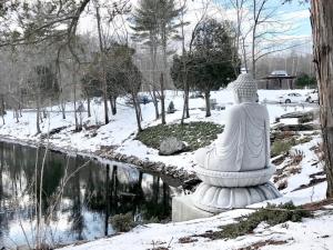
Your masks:
M258 103L256 82L249 73L230 83L235 104L229 110L224 131L213 147L195 153L196 176L203 181L192 196L196 208L220 212L280 197L269 182L270 118Z

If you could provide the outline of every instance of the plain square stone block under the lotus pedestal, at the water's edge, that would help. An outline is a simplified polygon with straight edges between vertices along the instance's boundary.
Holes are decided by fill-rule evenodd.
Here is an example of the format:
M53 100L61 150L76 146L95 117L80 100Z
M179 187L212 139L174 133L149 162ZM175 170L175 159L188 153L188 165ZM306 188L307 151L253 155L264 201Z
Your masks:
M193 203L193 194L174 197L172 199L172 221L180 222L200 218L213 217L215 213L196 208Z

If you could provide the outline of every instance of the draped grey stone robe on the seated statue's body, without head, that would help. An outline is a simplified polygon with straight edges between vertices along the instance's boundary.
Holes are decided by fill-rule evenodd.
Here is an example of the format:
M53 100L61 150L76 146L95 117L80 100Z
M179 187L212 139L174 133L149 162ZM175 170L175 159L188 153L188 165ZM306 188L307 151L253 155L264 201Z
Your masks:
M200 167L222 172L263 169L270 163L270 118L266 107L243 102L229 110L224 131L211 149L195 153Z

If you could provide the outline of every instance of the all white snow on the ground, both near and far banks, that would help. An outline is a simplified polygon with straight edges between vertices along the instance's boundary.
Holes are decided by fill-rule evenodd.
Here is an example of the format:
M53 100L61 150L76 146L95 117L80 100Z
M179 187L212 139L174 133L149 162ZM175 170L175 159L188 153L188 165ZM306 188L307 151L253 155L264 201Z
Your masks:
M310 90L293 90L305 94ZM279 96L291 92L286 90L260 90L260 101L266 100L271 123L275 122L275 118L292 111L310 111L317 108L316 104L279 104L274 100ZM212 121L224 124L225 113L232 106L232 94L228 90L212 92L212 99L216 99L220 106L224 106L225 110L212 111L210 118L204 117L204 111L200 108L204 107L203 99L190 99L191 118L186 121ZM173 101L178 111L167 116L167 122L179 122L182 108L182 92L168 91L167 106ZM87 103L84 103L85 106ZM72 110L71 103L67 104L68 110ZM85 107L87 109L87 107ZM103 122L103 109L100 100L92 101L92 117L88 118L87 113L82 113L83 123L89 126L100 126ZM142 106L143 128L160 123L154 120L154 107L152 103ZM33 110L24 110L19 122L16 122L11 111L6 116L6 124L0 127L0 138L16 140L26 143L38 143L39 137L36 136L36 112ZM285 119L283 122L294 123L293 119ZM72 132L74 129L73 112L67 113L63 120L58 107L48 108L48 119L41 124L42 132L67 126L60 133L50 138L50 142L57 148L61 148L71 152L97 153L101 147L114 147L115 152L124 156L135 156L142 160L153 162L163 162L176 170L192 171L194 152L185 152L179 156L162 157L158 154L158 150L145 147L140 141L134 140L137 133L137 122L134 110L124 104L124 100L119 100L118 113L111 117L111 122L107 126L100 126L94 130L82 130L81 132ZM97 132L97 133L95 133ZM95 133L95 134L93 134ZM303 159L299 163L301 171L286 177L287 186L281 190L282 198L269 201L270 203L284 203L293 201L295 204L304 204L309 202L325 199L326 182L320 182L309 186L312 174L319 174L323 171L323 166L313 164L319 161L319 156L312 149L321 142L320 136L312 136L310 142L293 147L293 150L303 152ZM287 159L278 168L287 167ZM319 176L321 177L321 176ZM322 176L323 177L323 176ZM273 179L272 179L273 180ZM304 186L303 189L299 189ZM307 187L307 188L306 188ZM268 202L251 206L259 208ZM128 233L118 234L111 238L100 239L81 246L69 246L67 249L73 250L147 250L164 247L168 249L239 249L251 246L255 242L266 240L286 241L281 246L266 246L261 249L330 249L333 246L333 216L330 213L316 214L315 218L305 219L302 223L286 222L275 227L258 228L254 233L240 237L234 240L208 240L195 237L198 241L191 243L180 243L182 237L191 237L193 234L203 233L206 230L218 230L218 227L234 221L235 218L244 216L253 210L238 209L221 213L213 218L192 220L188 222L167 223L167 224L145 224L134 228ZM93 230L93 229L91 229ZM327 237L329 236L329 237ZM304 240L306 239L306 240Z

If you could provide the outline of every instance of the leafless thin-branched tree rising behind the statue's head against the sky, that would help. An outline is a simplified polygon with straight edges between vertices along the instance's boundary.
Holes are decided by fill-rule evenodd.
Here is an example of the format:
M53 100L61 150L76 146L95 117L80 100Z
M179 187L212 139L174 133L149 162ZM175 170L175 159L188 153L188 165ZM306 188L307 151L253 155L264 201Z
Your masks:
M279 39L295 28L292 20L279 18L279 4L272 0L225 0L225 7L235 11L235 46L243 67L256 77L256 64L264 57L302 44L297 40ZM250 67L249 67L250 64Z

